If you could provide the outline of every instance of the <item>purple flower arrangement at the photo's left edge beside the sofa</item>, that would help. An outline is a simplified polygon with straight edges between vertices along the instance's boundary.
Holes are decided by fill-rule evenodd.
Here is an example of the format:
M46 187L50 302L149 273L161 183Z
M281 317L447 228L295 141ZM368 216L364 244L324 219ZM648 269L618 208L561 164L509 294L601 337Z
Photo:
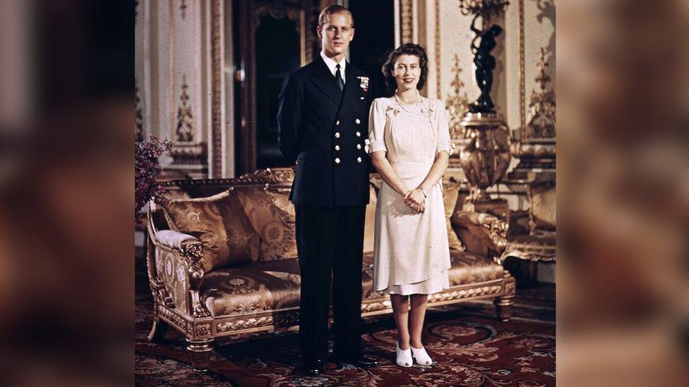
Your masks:
M160 176L160 164L158 157L168 152L172 147L170 140L158 140L155 136L148 140L137 142L134 149L134 187L135 203L134 221L138 222L143 214L141 209L150 200L164 204L167 199L163 197L163 189L157 178Z

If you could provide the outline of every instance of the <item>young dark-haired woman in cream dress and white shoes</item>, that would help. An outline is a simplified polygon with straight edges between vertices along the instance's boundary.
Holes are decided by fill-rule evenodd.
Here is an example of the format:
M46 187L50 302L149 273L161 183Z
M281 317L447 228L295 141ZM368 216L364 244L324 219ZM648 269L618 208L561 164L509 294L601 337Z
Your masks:
M403 44L383 74L393 97L369 116L371 161L383 178L376 207L373 287L390 294L397 324L397 364L433 361L421 343L428 295L450 287L450 250L441 179L453 148L443 102L421 97L426 52ZM411 309L409 309L411 304Z

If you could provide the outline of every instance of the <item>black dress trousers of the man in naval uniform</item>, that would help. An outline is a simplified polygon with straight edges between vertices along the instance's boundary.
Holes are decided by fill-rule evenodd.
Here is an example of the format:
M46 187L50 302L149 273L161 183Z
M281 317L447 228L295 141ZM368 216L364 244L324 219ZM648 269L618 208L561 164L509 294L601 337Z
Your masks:
M301 270L299 336L304 360L328 355L332 278L333 354L357 357L361 345L361 265L366 206L295 205Z

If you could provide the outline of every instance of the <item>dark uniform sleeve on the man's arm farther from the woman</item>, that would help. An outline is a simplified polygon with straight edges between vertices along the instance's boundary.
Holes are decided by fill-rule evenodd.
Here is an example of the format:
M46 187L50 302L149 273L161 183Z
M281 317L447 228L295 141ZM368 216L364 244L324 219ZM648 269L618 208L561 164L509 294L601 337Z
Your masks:
M289 164L294 164L299 154L299 128L304 95L294 73L284 78L282 91L277 97L277 146Z

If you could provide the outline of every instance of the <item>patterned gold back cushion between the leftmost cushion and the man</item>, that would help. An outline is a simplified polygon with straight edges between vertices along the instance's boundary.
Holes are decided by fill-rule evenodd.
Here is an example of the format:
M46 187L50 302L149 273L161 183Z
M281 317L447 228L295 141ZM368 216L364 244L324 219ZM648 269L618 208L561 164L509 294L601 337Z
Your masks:
M259 260L296 257L294 228L282 220L280 209L260 186L234 188L244 214L260 235Z

